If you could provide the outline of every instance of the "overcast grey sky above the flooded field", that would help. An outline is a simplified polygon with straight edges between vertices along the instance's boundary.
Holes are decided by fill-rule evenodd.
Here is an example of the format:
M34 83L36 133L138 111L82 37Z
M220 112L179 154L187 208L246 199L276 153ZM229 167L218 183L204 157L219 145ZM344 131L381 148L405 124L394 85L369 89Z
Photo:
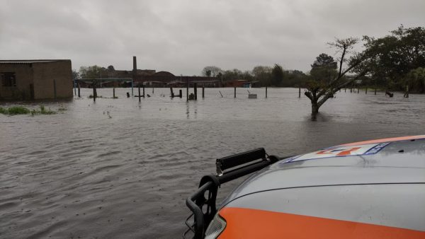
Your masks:
M310 70L334 37L425 26L424 0L0 0L0 59L71 59L200 75L204 66Z

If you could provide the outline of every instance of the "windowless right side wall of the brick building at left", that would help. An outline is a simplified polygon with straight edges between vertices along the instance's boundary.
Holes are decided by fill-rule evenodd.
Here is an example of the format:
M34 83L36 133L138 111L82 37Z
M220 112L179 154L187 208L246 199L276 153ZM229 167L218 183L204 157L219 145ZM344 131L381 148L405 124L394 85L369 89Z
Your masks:
M56 81L57 98L72 98L71 60L33 63L34 98L55 98L53 80Z

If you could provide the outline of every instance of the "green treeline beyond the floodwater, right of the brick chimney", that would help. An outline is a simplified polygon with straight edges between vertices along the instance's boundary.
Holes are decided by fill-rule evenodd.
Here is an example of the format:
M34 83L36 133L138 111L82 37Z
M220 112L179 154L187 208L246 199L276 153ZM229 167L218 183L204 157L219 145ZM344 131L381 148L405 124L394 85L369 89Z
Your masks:
M356 86L368 86L387 90L425 93L425 28L404 28L402 25L385 37L363 36L367 58L356 66L351 74L367 69L368 74L353 82ZM205 66L203 76L215 76L223 83L234 80L259 81L261 86L305 87L308 83L330 81L338 73L339 59L322 53L311 64L311 70L285 70L282 66L255 66L251 71L222 70L217 66ZM350 77L349 74L346 77Z

